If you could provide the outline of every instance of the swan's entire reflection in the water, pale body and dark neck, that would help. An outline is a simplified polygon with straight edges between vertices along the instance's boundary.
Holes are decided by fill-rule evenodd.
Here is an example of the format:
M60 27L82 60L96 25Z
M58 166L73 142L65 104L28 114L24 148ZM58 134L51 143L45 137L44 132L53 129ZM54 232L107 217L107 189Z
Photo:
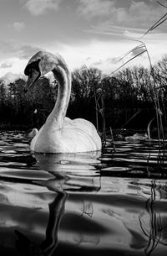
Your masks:
M77 167L76 170L81 170L82 175L85 172L86 176L89 175L89 170L93 170L91 173L91 175L93 174L93 177L91 176L90 184L94 184L94 176L96 178L94 172L94 164L99 163L98 157L99 153L95 152L89 154L80 154L80 157L76 156L75 154L33 155L33 158L37 160L40 170L45 170L53 175L53 178L51 179L38 181L36 180L34 183L47 187L49 191L53 191L55 193L55 197L53 201L48 204L49 215L46 228L46 238L42 243L38 245L34 244L23 234L23 232L15 230L15 233L18 237L16 245L20 255L23 255L25 252L28 253L27 255L53 255L53 252L58 246L58 227L63 217L65 202L68 197L68 194L65 190L68 190L68 181L71 180L70 175L75 175L75 169L73 172L69 168L69 165L71 167ZM78 178L76 178L76 180L77 179ZM81 185L81 182L79 185ZM94 185L91 186L94 188ZM94 212L92 201L83 201L83 209L81 211L84 214L89 214L90 211ZM77 243L81 243L81 241L84 241L84 243L85 241L87 241L87 243L98 243L99 237L95 236L94 238L91 238L81 233L81 236L74 236L73 240ZM25 250L25 248L27 249Z

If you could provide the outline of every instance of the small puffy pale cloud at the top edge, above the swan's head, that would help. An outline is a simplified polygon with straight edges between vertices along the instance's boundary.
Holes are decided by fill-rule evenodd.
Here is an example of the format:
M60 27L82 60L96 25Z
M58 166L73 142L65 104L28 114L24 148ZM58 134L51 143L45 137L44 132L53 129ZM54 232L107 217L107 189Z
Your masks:
M58 10L61 0L28 0L25 7L35 16L46 13L48 10Z

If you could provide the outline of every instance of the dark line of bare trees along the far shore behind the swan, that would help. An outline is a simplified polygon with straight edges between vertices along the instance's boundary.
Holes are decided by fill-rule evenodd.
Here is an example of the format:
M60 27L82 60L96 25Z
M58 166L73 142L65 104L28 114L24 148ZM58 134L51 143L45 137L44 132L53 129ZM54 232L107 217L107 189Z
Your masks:
M146 128L157 111L165 123L166 82L167 56L154 65L154 71L134 66L113 76L83 66L72 73L67 116L88 119L99 130L104 123L106 128ZM24 85L23 79L8 86L0 82L0 128L40 128L52 111L58 90L56 81L50 84L43 77L27 94L23 92Z

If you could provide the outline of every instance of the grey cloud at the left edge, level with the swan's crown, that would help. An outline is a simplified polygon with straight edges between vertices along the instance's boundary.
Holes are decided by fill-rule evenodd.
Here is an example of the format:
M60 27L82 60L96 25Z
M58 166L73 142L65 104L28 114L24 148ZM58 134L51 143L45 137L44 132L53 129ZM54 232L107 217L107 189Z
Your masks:
M19 59L28 59L37 51L42 50L29 44L21 44L16 40L0 41L0 59L17 57Z

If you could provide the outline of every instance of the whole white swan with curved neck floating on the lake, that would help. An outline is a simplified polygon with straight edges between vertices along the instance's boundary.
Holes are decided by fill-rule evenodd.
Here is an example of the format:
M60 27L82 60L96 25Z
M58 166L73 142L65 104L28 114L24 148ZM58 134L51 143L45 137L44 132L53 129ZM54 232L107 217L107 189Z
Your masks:
M71 93L71 74L63 57L38 51L28 61L24 74L28 81L24 91L33 86L40 76L53 71L58 81L58 97L46 122L32 139L30 149L36 153L79 153L100 150L101 138L93 123L65 117Z

